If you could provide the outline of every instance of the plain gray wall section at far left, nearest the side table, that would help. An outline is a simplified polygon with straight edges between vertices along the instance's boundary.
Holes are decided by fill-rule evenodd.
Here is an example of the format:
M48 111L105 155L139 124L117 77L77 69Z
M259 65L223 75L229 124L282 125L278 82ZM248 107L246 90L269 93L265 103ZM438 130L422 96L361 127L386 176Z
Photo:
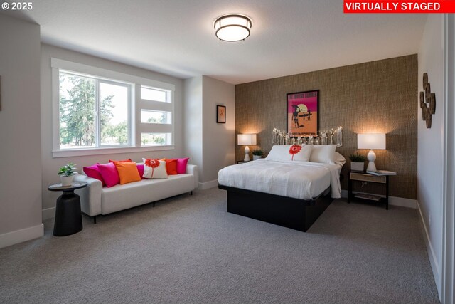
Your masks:
M40 27L0 14L0 41L2 247L43 235Z

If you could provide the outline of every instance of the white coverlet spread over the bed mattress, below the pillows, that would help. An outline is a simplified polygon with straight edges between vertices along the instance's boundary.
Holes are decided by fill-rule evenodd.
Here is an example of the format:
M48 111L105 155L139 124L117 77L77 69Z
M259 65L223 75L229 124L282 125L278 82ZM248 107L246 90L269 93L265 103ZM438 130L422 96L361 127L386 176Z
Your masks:
M331 197L339 199L340 172L339 164L258 159L221 169L218 183L305 200L316 198L331 186Z

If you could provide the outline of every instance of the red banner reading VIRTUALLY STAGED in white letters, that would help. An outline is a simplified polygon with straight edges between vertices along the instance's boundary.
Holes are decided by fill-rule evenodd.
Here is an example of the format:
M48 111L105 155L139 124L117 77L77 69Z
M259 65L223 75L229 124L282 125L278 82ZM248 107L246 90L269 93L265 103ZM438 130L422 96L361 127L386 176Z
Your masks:
M442 14L455 13L455 0L371 1L344 0L345 14Z

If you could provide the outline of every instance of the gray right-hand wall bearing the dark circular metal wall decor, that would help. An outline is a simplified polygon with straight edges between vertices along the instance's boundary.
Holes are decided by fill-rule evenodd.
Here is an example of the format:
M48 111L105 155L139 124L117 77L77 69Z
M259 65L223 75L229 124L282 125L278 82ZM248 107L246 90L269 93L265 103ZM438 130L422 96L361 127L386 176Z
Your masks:
M436 93L436 112L427 129L416 96L418 112L417 201L424 221L424 234L434 279L441 295L443 169L444 169L444 23L442 14L429 14L419 48L419 92L422 76L428 73L432 92Z

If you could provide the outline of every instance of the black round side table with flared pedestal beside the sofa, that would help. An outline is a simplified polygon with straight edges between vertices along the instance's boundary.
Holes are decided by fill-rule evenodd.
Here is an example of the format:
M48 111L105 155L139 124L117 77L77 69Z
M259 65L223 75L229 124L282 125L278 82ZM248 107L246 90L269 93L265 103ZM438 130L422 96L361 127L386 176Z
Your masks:
M71 186L53 184L50 191L63 191L55 206L54 236L69 236L82 230L82 214L80 213L80 198L75 189L87 187L86 182L73 182Z

